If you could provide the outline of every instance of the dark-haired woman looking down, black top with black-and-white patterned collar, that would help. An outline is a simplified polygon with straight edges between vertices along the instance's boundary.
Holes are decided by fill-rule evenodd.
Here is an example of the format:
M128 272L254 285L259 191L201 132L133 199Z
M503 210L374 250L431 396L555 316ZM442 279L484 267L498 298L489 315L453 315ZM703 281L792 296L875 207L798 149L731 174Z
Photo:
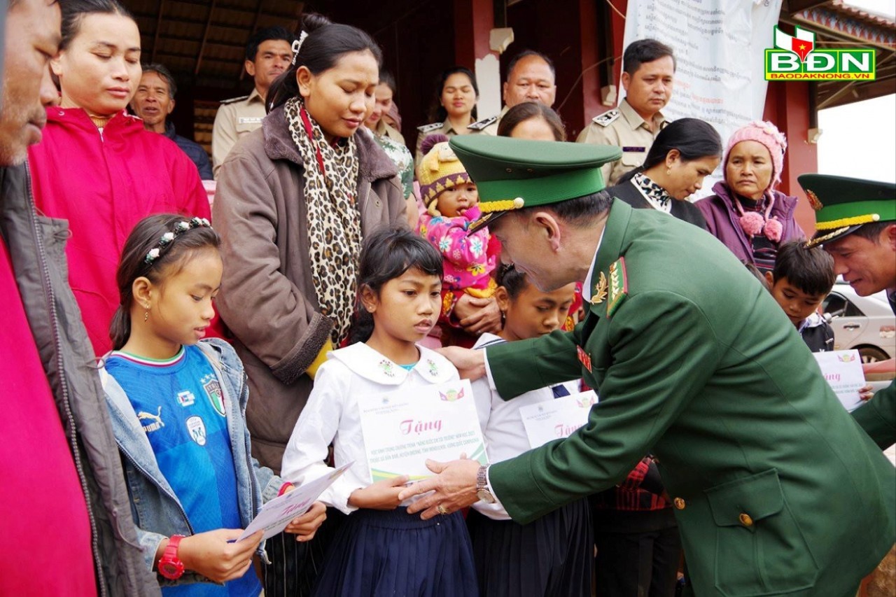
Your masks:
M687 200L719 166L722 142L709 123L679 118L659 132L642 166L627 172L607 193L636 209L655 209L702 229L706 221Z

